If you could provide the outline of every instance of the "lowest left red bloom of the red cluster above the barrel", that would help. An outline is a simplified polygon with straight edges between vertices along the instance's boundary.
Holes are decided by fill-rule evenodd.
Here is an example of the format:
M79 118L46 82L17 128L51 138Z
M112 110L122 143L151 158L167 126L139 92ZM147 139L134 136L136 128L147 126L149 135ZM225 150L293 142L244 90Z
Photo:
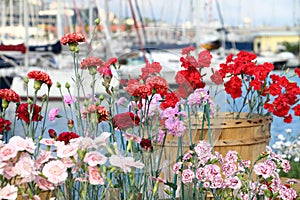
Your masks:
M236 99L242 96L242 80L237 76L232 76L228 82L224 84L225 91L230 94L231 98Z

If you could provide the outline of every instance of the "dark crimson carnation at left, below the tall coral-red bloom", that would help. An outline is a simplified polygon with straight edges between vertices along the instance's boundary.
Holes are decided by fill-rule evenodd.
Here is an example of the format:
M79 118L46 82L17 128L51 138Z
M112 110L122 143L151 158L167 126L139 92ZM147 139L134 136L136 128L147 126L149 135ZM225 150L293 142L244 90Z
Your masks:
M30 106L29 109L28 106ZM24 120L27 124L29 124L30 121L38 122L43 119L43 116L40 115L41 109L42 108L36 104L28 105L28 103L22 103L16 110L16 117L18 117L18 119ZM30 110L30 113L28 112L28 110ZM31 119L30 116L32 116Z

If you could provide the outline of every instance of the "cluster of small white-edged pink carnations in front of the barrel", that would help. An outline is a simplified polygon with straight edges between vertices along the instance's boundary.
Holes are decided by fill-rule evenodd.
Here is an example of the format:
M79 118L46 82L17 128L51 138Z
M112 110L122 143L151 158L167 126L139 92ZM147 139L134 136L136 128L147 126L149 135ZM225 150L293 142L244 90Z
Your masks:
M200 193L210 191L218 199L228 194L234 199L255 199L267 193L274 199L295 199L296 191L281 182L280 170L289 171L289 161L269 147L251 167L250 161L242 160L236 151L228 151L223 157L218 152L213 153L212 147L204 141L173 166L173 172L184 184L196 183ZM257 178L253 179L252 171Z

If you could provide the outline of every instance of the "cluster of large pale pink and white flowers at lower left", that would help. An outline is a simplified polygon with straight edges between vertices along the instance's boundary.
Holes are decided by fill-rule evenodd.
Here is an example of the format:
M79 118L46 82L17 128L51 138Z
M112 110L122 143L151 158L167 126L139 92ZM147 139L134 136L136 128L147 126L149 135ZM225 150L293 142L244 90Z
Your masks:
M103 132L94 139L78 137L71 139L68 144L43 138L39 145L46 148L38 149L37 156L36 145L31 138L12 137L7 144L0 144L0 178L4 186L0 187L0 199L15 199L21 188L24 195L28 195L27 192L32 194L32 188L24 189L27 183L36 188L34 195L43 190L54 190L68 179L104 185L106 174L103 166L108 160L110 166L124 173L131 172L132 168L144 167L143 163L135 161L133 157L113 154L108 158L102 154L110 135Z

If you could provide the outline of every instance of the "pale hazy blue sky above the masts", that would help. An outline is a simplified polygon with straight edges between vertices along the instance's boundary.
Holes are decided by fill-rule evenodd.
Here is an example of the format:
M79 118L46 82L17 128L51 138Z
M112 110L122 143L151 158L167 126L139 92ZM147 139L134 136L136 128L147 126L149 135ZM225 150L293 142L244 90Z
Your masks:
M73 2L73 0L65 0ZM93 4L94 0L76 1L77 6ZM242 26L251 22L252 26L294 26L300 25L300 0L131 0L139 4L143 16L163 19L178 24L191 19L203 23L220 22L217 12L219 2L225 25ZM101 5L105 8L105 1ZM107 7L117 15L131 16L129 0L108 0ZM193 2L193 12L191 9ZM198 2L198 3L197 3ZM191 14L193 13L193 15Z

